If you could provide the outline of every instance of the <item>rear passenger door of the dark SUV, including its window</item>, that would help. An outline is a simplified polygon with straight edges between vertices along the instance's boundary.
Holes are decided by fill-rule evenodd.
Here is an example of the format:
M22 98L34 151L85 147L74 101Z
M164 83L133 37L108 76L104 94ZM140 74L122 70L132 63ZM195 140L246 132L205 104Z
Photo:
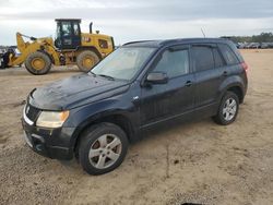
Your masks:
M195 107L216 102L218 88L226 73L224 60L214 44L192 45L191 59L195 79Z

